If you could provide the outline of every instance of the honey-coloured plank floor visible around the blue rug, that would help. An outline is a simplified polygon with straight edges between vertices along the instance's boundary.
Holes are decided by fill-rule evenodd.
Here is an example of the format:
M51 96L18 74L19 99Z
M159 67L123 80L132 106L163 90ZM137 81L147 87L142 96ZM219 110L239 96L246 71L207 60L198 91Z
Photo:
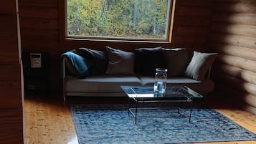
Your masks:
M77 100L77 102L99 102L100 98ZM71 103L73 103L70 100ZM256 133L256 115L240 110L227 103L207 102L234 122ZM103 100L103 102L111 102ZM121 99L115 102L127 102ZM24 100L25 143L29 144L77 144L77 135L72 121L69 104L63 105L62 99L44 97L26 97ZM219 142L207 144L256 144L254 141Z

